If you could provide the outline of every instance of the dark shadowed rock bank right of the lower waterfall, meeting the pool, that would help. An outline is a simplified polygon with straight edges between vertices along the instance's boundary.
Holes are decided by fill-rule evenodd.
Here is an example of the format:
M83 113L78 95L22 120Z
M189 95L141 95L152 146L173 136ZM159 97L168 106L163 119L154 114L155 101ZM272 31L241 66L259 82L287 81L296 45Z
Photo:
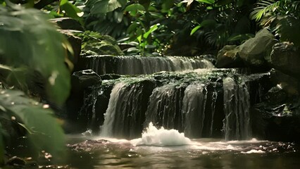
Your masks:
M253 137L270 141L300 142L300 102L298 81L271 70L268 92L251 106ZM266 87L266 84L263 84ZM255 89L254 89L255 90Z

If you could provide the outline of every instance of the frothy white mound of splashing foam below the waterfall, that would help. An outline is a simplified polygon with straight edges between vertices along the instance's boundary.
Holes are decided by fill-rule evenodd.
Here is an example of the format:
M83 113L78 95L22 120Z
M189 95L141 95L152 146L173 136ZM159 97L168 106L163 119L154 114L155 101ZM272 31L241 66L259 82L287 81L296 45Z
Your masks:
M134 146L151 145L151 146L180 146L192 144L191 140L185 137L183 132L178 130L165 130L163 127L157 129L152 123L146 127L142 133L142 138L132 139L131 144Z

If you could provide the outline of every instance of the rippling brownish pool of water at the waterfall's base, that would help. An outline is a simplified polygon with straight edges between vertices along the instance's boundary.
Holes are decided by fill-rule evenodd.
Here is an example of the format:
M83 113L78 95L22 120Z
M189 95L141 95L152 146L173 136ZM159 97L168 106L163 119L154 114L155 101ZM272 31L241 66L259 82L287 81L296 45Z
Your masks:
M299 146L251 139L191 139L154 146L136 140L69 136L70 168L299 168Z

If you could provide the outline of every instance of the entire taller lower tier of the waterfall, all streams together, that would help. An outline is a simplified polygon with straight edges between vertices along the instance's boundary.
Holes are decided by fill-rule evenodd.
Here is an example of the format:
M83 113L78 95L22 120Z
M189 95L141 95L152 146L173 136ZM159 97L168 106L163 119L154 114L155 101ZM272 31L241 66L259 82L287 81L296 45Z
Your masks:
M203 69L104 80L102 86L113 87L104 92L110 88L110 96L96 87L99 91L92 99L109 101L90 101L92 123L102 124L101 137L137 138L154 123L190 138L222 137L223 130L227 140L249 139L249 92L246 84L233 78L237 76L235 70ZM94 110L97 107L106 111ZM103 118L97 114L101 112L104 123L94 119Z

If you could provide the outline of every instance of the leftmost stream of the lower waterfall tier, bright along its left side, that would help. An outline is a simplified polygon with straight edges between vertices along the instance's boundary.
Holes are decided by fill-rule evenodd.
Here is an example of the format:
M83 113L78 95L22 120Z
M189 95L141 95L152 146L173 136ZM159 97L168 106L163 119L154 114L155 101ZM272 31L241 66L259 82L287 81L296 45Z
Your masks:
M153 88L154 84L147 80L116 83L111 91L100 135L138 137L143 129L144 112Z

